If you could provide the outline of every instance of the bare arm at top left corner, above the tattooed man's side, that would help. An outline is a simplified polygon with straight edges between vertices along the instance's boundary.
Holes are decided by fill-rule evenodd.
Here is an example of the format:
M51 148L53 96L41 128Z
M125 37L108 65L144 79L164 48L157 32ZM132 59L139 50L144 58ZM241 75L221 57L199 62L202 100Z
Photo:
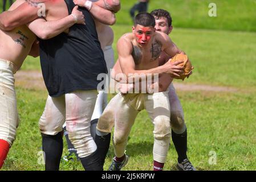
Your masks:
M43 2L43 1L42 1ZM0 28L4 31L13 30L23 24L29 23L38 18L38 7L23 3L13 11L5 11L0 14Z

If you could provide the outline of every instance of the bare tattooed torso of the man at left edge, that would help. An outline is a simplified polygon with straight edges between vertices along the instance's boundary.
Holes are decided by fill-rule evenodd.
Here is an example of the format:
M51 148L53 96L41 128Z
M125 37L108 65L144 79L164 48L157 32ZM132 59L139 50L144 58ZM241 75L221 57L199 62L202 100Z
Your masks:
M17 0L9 10L16 9L25 0ZM15 28L12 31L0 30L0 59L13 62L18 68L30 52L36 36L26 25Z

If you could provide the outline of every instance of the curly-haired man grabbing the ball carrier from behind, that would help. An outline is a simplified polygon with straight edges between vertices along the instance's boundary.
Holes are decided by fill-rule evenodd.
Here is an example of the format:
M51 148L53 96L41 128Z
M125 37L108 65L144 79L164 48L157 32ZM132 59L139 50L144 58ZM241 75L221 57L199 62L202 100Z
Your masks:
M172 18L168 11L158 9L151 12L151 14L156 19L156 31L164 32L165 34L169 35L172 32ZM166 55L165 52L162 52L159 57L159 64L165 64L171 57ZM119 73L121 73L120 64L117 61L115 67L113 68L113 78ZM177 76L177 73L173 72L171 75ZM195 168L189 162L188 157L186 155L187 150L187 133L186 133L186 125L184 122L184 113L182 110L182 106L180 100L178 100L178 96L175 92L174 86L171 83L170 85L165 84L168 82L169 78L160 77L159 82L163 86L162 90L169 89L169 103L170 103L170 126L172 127L172 140L174 146L176 148L178 154L177 160L177 168L182 171L193 171Z

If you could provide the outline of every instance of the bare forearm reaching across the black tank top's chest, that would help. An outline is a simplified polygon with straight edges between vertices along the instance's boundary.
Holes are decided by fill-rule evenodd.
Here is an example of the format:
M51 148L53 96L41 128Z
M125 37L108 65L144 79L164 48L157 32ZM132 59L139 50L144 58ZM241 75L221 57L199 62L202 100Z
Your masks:
M75 24L74 16L68 15L60 20L48 21L35 20L29 24L29 28L40 39L51 39L61 34L67 28Z

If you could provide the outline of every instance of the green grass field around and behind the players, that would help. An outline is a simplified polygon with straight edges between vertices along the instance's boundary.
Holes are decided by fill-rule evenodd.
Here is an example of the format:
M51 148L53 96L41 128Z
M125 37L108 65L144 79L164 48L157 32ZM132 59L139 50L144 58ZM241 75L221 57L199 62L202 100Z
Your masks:
M117 24L113 26L114 47L121 35L131 31L128 11L134 2L122 1ZM208 16L209 2L217 4L216 18ZM189 55L195 67L184 83L238 89L238 92L177 91L188 127L190 161L198 170L255 170L256 1L162 0L151 1L149 10L160 7L172 12L174 30L170 38ZM31 57L22 67L23 71L39 69L39 60ZM38 164L41 151L38 120L46 97L46 90L17 88L21 123L3 170L44 169ZM152 170L153 126L149 123L147 113L142 111L129 137L127 154L131 160L124 170ZM216 164L209 164L211 151L216 152ZM67 155L66 147L63 155ZM111 146L105 169L113 155ZM164 169L175 170L176 160L171 142ZM62 160L60 170L83 170L83 167L79 162Z

